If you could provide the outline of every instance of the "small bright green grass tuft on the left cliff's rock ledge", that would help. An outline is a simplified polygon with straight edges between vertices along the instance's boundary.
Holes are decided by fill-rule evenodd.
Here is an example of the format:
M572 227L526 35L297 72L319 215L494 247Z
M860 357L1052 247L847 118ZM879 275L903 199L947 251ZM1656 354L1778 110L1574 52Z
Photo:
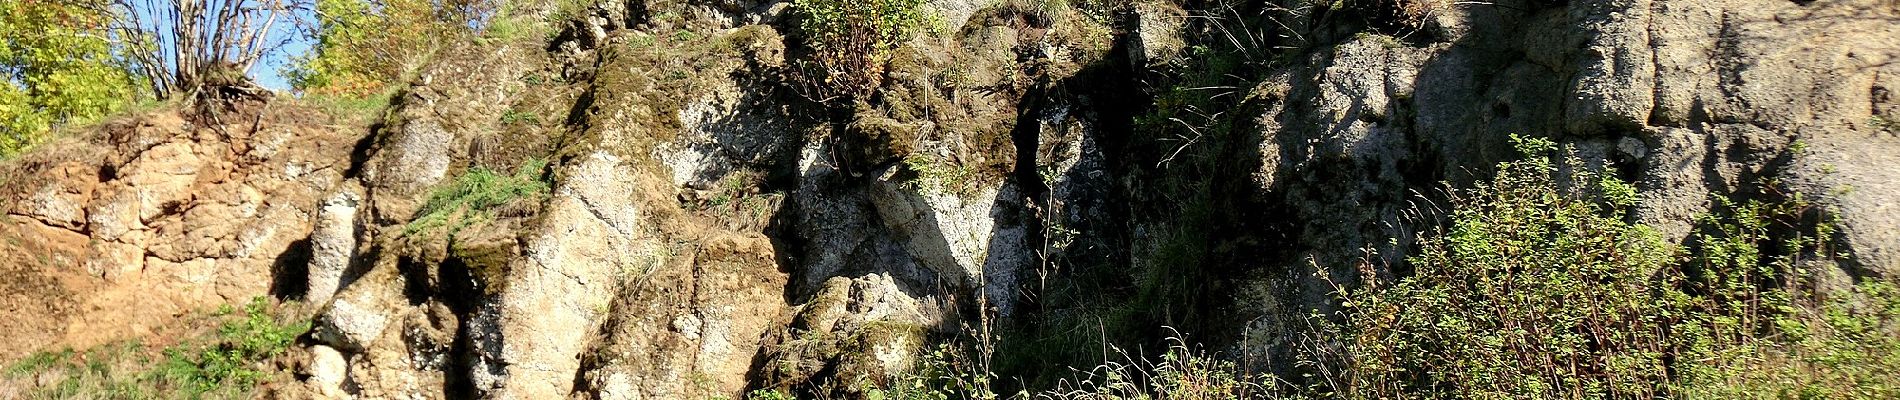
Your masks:
M414 235L439 227L448 227L448 235L462 231L475 222L492 218L492 209L521 199L540 199L549 186L542 180L547 169L545 159L528 159L515 174L500 174L490 169L473 167L454 182L429 193L429 201L416 210L416 220L403 227L403 235Z

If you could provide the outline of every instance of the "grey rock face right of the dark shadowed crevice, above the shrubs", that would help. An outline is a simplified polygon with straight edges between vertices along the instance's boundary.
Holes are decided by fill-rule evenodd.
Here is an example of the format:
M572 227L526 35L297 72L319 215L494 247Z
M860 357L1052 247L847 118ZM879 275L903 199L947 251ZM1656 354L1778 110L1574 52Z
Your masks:
M1448 9L1410 42L1358 36L1311 53L1260 85L1256 182L1290 205L1303 226L1294 248L1307 250L1258 284L1281 290L1252 301L1256 349L1330 290L1286 284L1309 260L1334 277L1366 260L1358 248L1398 264L1402 246L1385 239L1414 235L1410 212L1434 182L1514 157L1512 133L1636 182L1634 218L1672 241L1716 195L1826 199L1849 254L1822 273L1828 286L1892 277L1900 212L1870 205L1896 193L1858 188L1890 182L1900 154L1900 136L1870 125L1892 110L1877 93L1900 72L1896 17L1887 2L1505 2Z

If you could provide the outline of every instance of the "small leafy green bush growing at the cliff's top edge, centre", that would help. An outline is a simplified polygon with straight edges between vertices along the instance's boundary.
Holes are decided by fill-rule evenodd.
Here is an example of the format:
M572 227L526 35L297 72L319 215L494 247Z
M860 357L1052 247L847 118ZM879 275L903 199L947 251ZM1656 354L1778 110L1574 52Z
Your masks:
M813 99L861 99L884 83L891 49L929 27L923 0L794 0Z

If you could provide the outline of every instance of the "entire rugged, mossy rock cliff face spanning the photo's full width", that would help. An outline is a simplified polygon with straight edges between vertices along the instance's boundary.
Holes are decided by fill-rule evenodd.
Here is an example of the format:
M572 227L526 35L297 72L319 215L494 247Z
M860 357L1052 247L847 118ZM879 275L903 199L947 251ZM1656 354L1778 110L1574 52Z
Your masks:
M334 398L855 394L996 332L1273 364L1512 133L1636 182L1672 241L1805 193L1826 284L1900 273L1890 2L929 8L855 106L787 80L783 2L598 2L450 44L370 131L108 125L10 165L8 294L72 296L6 298L48 328L0 356L276 294L317 309ZM439 214L484 171L547 191Z

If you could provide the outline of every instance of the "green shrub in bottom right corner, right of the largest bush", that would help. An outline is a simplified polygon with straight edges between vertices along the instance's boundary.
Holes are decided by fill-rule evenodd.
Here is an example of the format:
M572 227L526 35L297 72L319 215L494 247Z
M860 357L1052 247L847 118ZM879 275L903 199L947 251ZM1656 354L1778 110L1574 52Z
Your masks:
M1900 398L1900 290L1864 281L1809 292L1803 254L1826 256L1832 220L1811 235L1773 241L1811 214L1799 195L1778 203L1718 201L1702 218L1689 290L1702 301L1706 356L1680 366L1685 398ZM1773 246L1773 245L1778 245ZM1826 265L1826 264L1822 264ZM1826 265L1832 267L1832 265Z

